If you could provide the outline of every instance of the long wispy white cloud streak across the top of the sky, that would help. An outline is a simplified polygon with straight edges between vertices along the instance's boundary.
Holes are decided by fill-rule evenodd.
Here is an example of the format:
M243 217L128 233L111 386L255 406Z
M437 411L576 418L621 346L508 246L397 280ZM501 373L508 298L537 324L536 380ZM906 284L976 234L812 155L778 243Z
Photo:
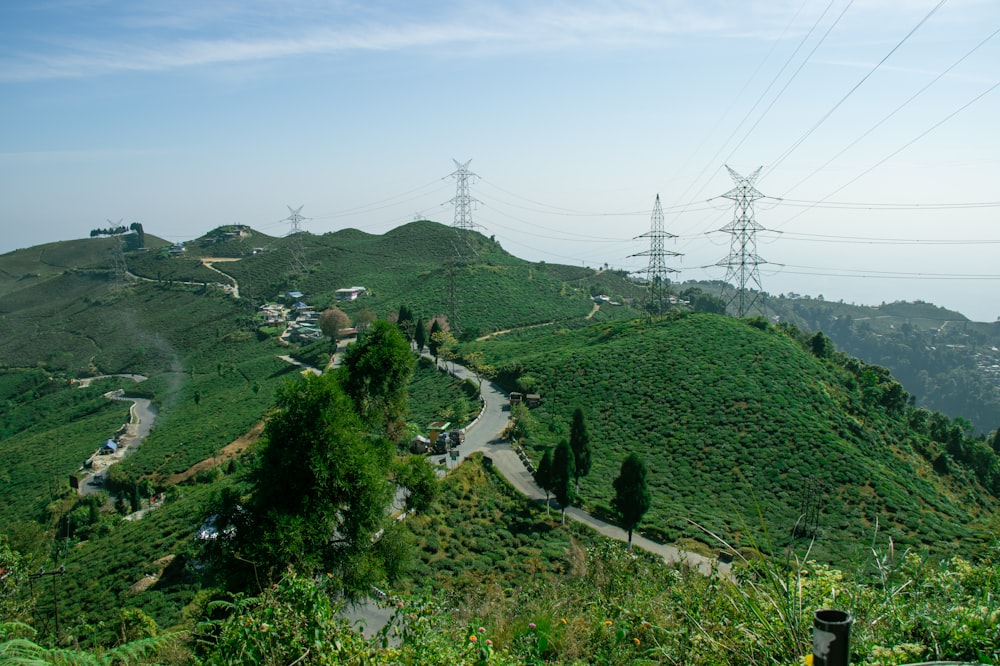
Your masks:
M104 3L97 3L100 8ZM173 6L173 5L172 5ZM576 46L652 45L731 28L732 16L695 2L458 2L434 15L409 5L196 3L180 11L114 6L90 32L18 45L0 59L0 81L83 78L214 64L365 51L465 49L470 53ZM174 7L176 9L176 7ZM97 11L97 10L95 10ZM90 25L79 22L77 25ZM2 33L0 33L2 36Z

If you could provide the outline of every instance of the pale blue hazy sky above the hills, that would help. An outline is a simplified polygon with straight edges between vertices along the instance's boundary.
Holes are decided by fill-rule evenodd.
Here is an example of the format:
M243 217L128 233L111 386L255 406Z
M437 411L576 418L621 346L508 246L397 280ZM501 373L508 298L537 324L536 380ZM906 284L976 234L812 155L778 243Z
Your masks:
M6 0L0 253L453 224L468 163L516 256L645 274L659 195L721 280L731 169L768 293L994 321L998 119L995 0Z

